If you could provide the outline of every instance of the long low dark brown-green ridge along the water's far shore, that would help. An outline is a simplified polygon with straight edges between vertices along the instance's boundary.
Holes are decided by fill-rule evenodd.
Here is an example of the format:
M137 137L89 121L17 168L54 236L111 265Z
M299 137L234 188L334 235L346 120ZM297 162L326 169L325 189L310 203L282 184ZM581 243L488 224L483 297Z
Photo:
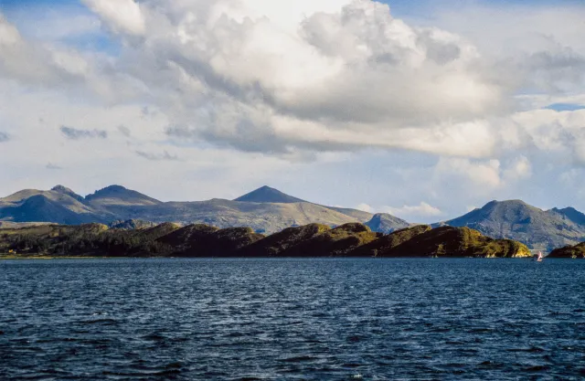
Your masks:
M128 221L0 229L0 256L14 257L438 257L529 258L527 246L493 239L470 228L420 225L389 234L349 223L336 228L309 224L270 236L251 228L148 226Z

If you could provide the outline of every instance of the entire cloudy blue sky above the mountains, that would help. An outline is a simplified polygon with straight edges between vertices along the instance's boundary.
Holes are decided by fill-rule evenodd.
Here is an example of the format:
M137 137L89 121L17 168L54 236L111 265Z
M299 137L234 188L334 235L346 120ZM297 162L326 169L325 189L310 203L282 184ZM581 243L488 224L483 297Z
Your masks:
M0 196L585 211L583 20L559 0L0 0Z

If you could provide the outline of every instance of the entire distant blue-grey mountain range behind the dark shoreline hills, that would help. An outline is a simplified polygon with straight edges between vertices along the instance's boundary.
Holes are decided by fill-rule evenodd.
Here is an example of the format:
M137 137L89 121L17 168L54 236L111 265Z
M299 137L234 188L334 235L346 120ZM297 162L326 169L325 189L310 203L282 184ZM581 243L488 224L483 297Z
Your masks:
M194 202L163 202L121 185L110 185L88 196L57 185L48 191L25 189L0 198L0 228L32 222L65 225L97 222L116 228L175 222L218 228L250 227L263 234L312 223L336 227L360 222L385 234L414 225L389 214L314 204L269 186L234 200ZM585 215L580 211L572 207L542 210L521 200L491 201L462 217L432 226L473 228L488 237L515 239L531 249L545 251L585 240Z

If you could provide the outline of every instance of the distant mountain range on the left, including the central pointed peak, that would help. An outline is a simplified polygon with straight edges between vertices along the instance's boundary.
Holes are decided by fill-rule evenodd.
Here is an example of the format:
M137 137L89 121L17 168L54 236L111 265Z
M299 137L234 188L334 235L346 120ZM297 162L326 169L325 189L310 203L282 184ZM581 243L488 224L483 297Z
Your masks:
M40 196L44 198L38 198ZM69 225L98 222L124 229L171 221L218 228L251 227L271 234L311 223L329 227L364 223L372 216L361 210L306 202L268 186L234 201L215 198L197 202L162 202L121 185L107 186L86 197L57 185L49 191L27 189L0 198L0 221Z

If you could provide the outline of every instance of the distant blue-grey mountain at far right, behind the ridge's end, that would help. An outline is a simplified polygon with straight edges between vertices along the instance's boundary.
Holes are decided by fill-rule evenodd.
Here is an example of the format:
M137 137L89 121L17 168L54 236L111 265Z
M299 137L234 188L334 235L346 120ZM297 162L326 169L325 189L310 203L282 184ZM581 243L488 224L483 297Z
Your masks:
M521 200L492 201L480 209L434 224L479 230L492 238L516 239L533 249L552 250L585 240L585 216L573 208L542 210Z

